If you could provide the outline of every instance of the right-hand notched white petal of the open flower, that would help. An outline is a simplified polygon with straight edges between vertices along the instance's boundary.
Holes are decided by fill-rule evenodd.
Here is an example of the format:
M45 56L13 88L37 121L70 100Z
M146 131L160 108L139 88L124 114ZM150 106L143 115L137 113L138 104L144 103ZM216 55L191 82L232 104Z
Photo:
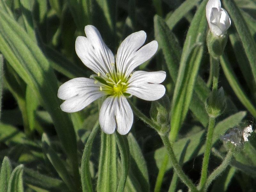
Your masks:
M127 84L127 93L143 100L153 101L164 96L165 87L162 83L166 77L164 71L135 71Z

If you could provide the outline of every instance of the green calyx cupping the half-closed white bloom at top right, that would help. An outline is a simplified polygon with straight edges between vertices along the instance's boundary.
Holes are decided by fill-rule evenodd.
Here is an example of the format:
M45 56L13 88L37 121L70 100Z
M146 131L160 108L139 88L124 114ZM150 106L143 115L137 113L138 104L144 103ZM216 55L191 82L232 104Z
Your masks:
M222 55L227 41L227 34L223 36L214 36L209 30L206 37L206 43L210 55L214 58L218 58L220 55Z

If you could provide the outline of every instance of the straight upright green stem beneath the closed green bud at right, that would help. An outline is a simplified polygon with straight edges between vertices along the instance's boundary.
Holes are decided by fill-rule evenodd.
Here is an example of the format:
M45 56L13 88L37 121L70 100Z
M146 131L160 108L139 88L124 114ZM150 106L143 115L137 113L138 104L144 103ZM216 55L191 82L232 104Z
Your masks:
M204 185L207 179L208 164L209 164L209 158L210 158L210 153L212 148L212 134L213 134L214 126L215 126L215 117L209 117L208 132L206 136L206 145L205 145L205 151L204 151L201 178L199 183L200 189L204 188Z

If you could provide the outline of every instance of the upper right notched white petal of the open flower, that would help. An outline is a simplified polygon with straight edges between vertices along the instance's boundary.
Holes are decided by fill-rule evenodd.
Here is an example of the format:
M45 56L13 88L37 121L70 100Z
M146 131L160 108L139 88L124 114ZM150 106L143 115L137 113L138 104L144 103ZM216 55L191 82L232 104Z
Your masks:
M149 60L156 53L158 48L157 42L152 41L141 47L145 40L146 33L144 31L132 33L124 39L116 55L118 72L129 76L134 68Z

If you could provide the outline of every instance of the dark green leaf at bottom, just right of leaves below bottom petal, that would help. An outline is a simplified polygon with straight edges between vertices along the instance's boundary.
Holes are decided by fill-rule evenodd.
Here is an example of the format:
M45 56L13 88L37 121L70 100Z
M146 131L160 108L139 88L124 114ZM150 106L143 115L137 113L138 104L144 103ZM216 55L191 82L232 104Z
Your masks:
M142 191L149 191L149 177L146 161L139 144L133 137L132 133L128 134L129 150L131 154L129 176L131 173L138 181ZM132 177L131 177L132 178Z

